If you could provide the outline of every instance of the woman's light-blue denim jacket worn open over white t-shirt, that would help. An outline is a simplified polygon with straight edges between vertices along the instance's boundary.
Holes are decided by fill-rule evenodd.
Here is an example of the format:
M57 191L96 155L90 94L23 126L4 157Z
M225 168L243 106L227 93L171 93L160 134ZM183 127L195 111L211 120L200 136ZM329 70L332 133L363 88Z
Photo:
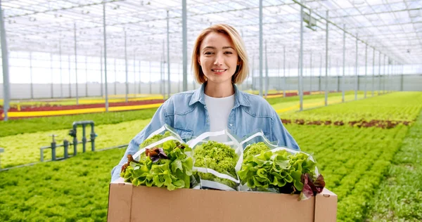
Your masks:
M155 130L164 124L172 126L184 141L193 136L210 130L209 115L205 105L205 84L200 89L174 94L165 101L155 112L151 122L136 135L124 153L120 163L111 171L112 181L120 176L123 164L127 162L127 155L134 155L139 150L139 145ZM276 141L294 150L300 150L298 143L284 128L279 115L261 96L235 90L234 107L229 115L227 124L229 131L238 138L262 130L269 141Z

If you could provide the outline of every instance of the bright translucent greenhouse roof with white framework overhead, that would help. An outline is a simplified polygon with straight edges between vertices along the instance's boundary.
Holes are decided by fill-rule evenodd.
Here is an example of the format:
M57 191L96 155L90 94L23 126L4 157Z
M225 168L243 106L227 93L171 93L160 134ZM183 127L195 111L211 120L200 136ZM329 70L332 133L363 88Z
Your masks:
M250 59L257 60L260 41L260 1L187 1L188 58L200 30L224 22L236 27L245 41ZM100 0L6 0L2 1L9 51L41 51L100 56L103 51L103 1ZM304 22L304 65L324 63L326 12L328 11L328 56L343 62L343 27L346 31L346 64L383 60L420 64L422 61L422 1L411 0L321 0L302 1L314 24ZM107 55L142 60L161 60L167 53L167 11L170 60L182 60L181 1L106 1ZM262 3L264 46L270 66L283 58L298 64L300 51L300 1ZM76 37L76 38L75 38ZM357 38L358 41L357 41ZM375 55L373 52L375 51ZM381 52L383 55L379 55ZM165 54L167 58L167 55ZM324 59L323 59L324 58ZM251 62L252 63L252 62Z

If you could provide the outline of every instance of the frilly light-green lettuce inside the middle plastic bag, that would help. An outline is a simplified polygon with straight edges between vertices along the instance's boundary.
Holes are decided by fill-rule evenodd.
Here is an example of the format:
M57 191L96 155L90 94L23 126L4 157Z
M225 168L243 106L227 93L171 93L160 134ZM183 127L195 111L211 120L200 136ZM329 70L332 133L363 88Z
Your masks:
M227 174L233 178L237 178L235 166L238 155L236 155L235 150L229 145L208 141L207 143L196 146L193 157L195 158L196 167L214 169L221 174ZM203 180L223 183L231 188L236 188L237 186L233 181L219 178L210 173L198 172L198 175Z

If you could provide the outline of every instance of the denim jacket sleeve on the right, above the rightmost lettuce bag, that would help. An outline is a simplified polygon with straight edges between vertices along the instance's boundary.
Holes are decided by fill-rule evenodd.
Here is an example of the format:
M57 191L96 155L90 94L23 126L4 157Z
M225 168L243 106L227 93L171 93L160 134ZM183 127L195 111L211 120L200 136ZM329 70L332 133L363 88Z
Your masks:
M273 141L278 141L278 144L281 146L286 146L293 150L300 150L298 143L296 143L293 136L291 136L287 129L283 126L283 123L275 110L273 110L271 119Z

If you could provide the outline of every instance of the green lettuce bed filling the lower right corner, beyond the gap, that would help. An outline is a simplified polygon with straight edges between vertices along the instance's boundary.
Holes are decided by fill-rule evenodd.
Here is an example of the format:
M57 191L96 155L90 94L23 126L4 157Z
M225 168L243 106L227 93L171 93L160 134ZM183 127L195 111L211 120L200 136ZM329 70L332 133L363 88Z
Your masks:
M422 221L422 113L375 192L368 221Z

